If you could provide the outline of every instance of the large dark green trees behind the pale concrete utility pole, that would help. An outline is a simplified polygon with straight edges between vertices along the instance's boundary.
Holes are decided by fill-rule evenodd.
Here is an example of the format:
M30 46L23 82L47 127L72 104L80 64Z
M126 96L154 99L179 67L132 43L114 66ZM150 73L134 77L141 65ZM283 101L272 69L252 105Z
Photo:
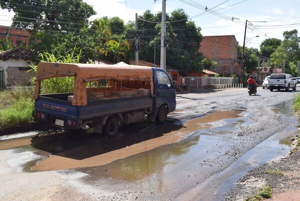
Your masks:
M160 22L161 13L152 14L149 10L138 16L139 32L139 59L154 63L154 44L156 44L155 64L160 58ZM186 20L187 14L182 9L177 9L166 15L166 64L182 71L202 70L200 61L203 56L198 53L202 40L200 28L194 22ZM179 20L179 21L178 21ZM181 20L181 21L180 21ZM150 23L157 22L157 23ZM176 21L176 22L175 22ZM133 39L135 36L134 23L126 25L125 35ZM134 47L134 41L131 42ZM134 58L134 49L128 52L129 58Z

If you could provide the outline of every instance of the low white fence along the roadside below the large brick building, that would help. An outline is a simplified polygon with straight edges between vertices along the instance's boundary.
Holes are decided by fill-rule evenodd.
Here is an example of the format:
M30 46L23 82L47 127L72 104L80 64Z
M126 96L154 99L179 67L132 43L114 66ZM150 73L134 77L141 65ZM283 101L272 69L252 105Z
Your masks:
M242 84L239 84L238 78L229 77L183 77L182 84L189 86L191 89L226 89L242 87Z

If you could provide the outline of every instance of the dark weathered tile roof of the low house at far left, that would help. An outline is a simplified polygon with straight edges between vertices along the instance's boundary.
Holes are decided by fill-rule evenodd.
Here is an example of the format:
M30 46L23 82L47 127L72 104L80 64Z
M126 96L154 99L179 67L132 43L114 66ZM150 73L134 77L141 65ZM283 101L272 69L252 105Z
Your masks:
M26 50L24 48L15 48L12 50L7 50L0 53L0 60L5 61L7 59L23 59L30 60L32 58L33 52Z

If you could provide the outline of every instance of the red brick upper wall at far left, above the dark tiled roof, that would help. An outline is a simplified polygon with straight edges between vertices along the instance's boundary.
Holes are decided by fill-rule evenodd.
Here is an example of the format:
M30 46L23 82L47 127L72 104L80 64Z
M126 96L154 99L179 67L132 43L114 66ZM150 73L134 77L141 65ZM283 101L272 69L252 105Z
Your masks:
M2 40L5 40L7 33L9 34L11 46L15 46L16 41L25 41L25 46L28 45L28 39L30 34L25 29L15 29L0 26L0 38Z

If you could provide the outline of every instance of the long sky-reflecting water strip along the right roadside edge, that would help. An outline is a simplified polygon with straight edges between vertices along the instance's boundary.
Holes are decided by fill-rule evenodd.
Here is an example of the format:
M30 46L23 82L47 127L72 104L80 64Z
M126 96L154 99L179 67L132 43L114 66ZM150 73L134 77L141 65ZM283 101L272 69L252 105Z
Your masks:
M283 119L288 119L290 126L262 141L239 157L232 165L181 194L176 200L223 200L224 193L228 192L235 182L251 168L276 156L287 154L292 144L290 138L299 134L298 129L293 126L297 125L297 118L293 116L289 102L280 103L272 110L280 113Z

